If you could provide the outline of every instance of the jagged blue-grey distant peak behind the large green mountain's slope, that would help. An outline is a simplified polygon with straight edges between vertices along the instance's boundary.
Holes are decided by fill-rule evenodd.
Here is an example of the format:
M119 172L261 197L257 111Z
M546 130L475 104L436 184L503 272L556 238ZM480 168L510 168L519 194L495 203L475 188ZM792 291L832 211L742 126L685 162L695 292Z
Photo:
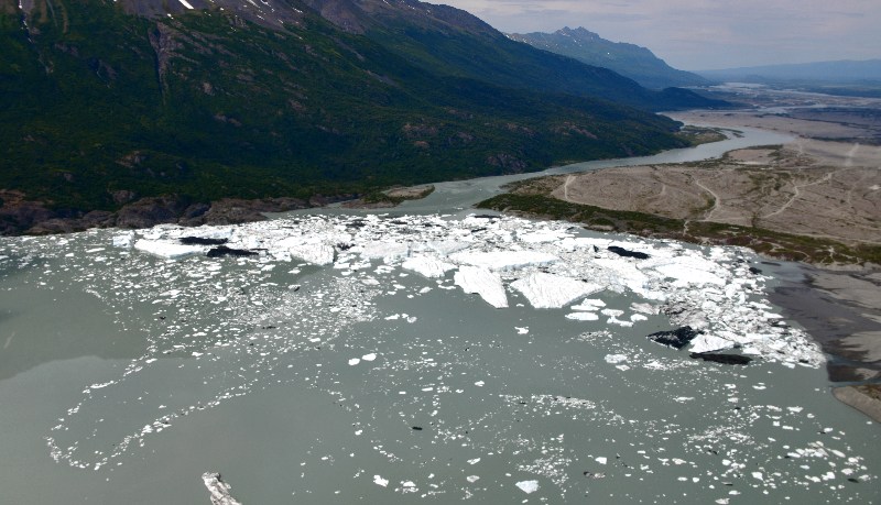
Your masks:
M671 67L645 47L607 41L584 28L573 30L567 26L554 33L510 33L508 36L588 65L612 69L646 88L707 84L707 79L697 74Z

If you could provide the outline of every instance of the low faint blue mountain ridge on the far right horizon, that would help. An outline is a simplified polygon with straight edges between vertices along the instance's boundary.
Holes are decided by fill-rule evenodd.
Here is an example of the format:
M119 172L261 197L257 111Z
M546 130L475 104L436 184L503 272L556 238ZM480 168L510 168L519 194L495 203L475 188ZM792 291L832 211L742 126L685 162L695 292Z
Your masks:
M701 70L699 74L713 80L771 83L881 83L881 59L816 62L790 65Z

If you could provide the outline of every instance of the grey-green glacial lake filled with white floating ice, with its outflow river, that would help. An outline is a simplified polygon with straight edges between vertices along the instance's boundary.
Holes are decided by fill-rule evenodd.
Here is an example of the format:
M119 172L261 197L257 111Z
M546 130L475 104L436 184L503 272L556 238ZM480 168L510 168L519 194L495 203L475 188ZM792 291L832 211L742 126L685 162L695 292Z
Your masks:
M3 502L208 504L204 472L246 505L879 499L881 432L829 394L758 257L467 217L521 177L391 212L0 239ZM685 322L754 361L646 338Z

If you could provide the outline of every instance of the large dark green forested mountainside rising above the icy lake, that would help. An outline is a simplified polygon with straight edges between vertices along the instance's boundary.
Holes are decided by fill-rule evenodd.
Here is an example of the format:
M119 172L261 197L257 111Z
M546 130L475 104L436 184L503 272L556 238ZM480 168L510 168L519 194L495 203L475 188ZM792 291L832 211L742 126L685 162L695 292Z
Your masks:
M8 231L644 154L677 123L610 99L704 100L410 0L0 0L0 96Z

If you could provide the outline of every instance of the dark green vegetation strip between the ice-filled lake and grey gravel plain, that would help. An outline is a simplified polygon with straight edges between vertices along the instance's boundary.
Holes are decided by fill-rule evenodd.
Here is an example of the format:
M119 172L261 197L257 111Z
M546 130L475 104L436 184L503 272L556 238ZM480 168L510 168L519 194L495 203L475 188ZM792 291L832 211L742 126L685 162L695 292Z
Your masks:
M570 204L545 195L509 193L483 200L477 207L579 222L586 228L599 231L675 239L699 244L740 245L766 256L788 261L815 264L866 262L881 264L881 246L878 245L849 246L828 239L707 221L689 221L686 227L686 222L679 219Z

